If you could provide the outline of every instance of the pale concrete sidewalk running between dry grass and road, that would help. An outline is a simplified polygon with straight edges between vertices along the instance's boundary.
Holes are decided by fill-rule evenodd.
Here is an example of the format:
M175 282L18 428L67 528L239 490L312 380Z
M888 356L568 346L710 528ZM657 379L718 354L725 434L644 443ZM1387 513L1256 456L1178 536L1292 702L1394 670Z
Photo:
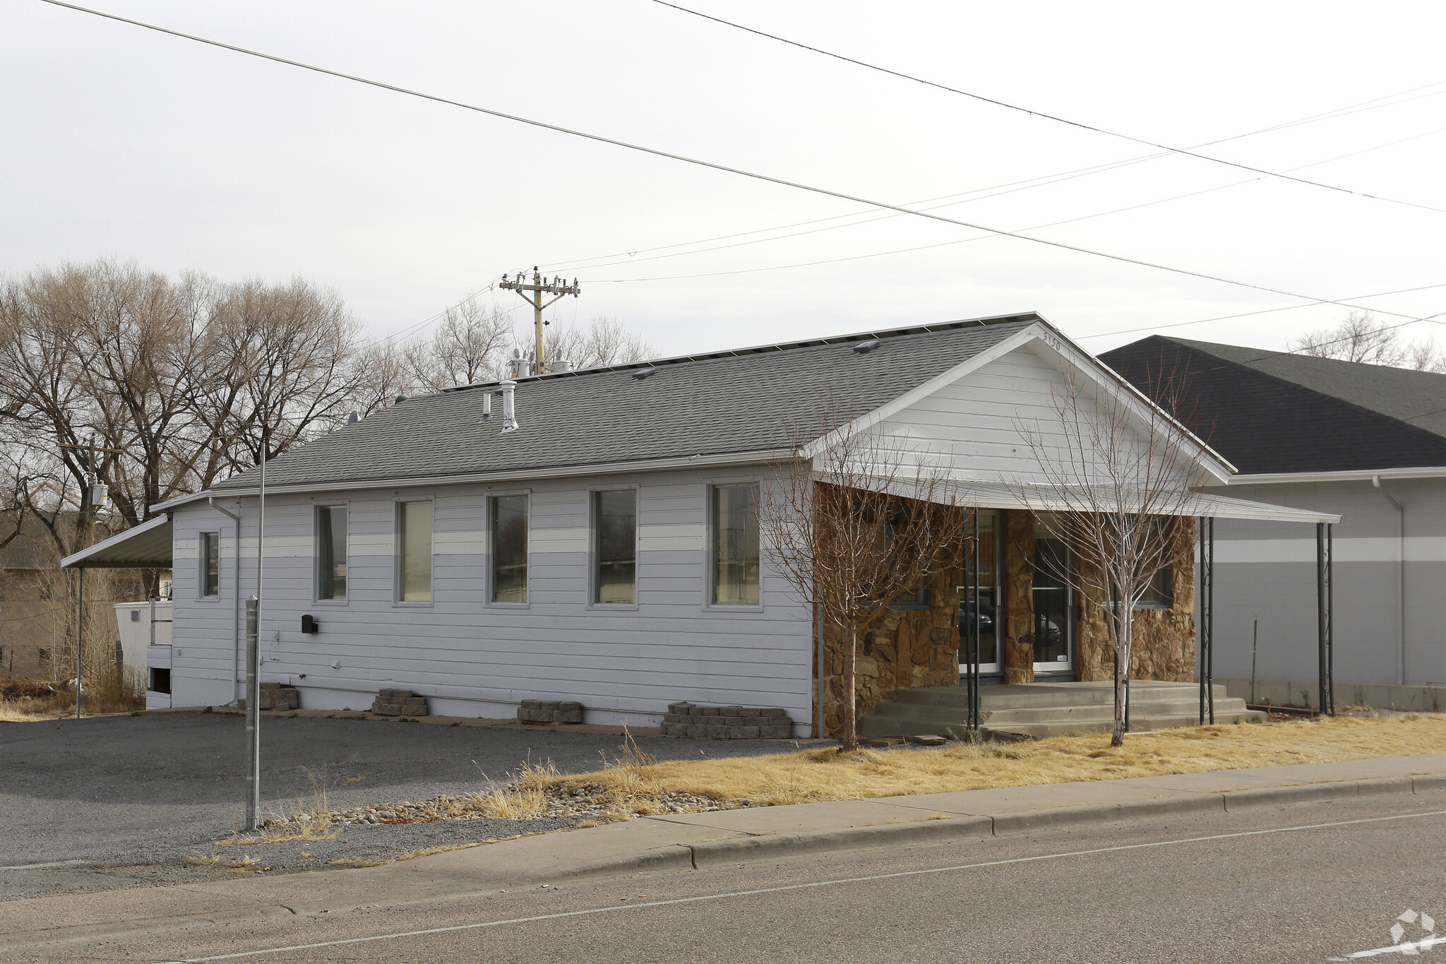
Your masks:
M1446 791L1446 754L649 817L325 874L247 876L12 900L0 903L0 947L399 906L755 857L1432 791Z

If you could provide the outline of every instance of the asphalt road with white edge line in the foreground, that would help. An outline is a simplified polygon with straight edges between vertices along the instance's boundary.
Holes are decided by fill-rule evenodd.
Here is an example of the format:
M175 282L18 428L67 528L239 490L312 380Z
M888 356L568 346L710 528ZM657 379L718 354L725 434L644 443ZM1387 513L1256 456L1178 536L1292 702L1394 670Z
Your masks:
M1319 963L1394 944L1408 909L1446 922L1439 811L1446 793L1074 827L26 948L0 961ZM1416 921L1404 939L1426 935ZM1433 954L1446 960L1446 945L1421 958Z

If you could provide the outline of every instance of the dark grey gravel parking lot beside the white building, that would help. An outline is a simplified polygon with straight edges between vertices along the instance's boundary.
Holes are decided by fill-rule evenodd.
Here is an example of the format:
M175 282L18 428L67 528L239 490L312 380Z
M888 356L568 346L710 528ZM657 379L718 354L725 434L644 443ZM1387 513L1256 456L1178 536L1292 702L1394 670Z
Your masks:
M241 717L221 714L0 723L7 831L0 835L0 899L214 879L240 851L275 872L305 870L570 822L347 825L330 841L215 845L241 825L243 726ZM781 740L667 737L641 737L638 746L658 759L795 749ZM616 759L620 750L622 737L609 734L265 718L262 806L276 814L311 809L314 780L328 788L333 809L464 793L505 782L526 760L577 773L599 769L603 754ZM188 863L195 856L223 860ZM61 866L20 869L27 864Z

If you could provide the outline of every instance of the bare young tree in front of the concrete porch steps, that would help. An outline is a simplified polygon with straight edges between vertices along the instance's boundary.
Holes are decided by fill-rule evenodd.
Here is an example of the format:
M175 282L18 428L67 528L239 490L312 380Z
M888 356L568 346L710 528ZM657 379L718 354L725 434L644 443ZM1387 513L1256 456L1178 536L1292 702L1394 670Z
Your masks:
M1067 376L1045 421L1017 421L1038 462L1041 484L1011 483L1044 529L1079 555L1047 559L1086 604L1100 607L1115 650L1115 731L1125 739L1134 611L1160 575L1190 558L1181 517L1193 515L1206 481L1205 442L1168 412L1187 393L1184 380L1152 380L1150 405L1124 387L1083 384Z

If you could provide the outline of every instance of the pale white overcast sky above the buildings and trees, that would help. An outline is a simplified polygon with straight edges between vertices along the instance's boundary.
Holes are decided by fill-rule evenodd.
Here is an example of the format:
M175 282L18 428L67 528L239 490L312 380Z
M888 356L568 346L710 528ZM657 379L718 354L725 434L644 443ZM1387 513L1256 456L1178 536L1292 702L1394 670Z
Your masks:
M884 77L649 0L94 0L281 56L888 202L1151 153ZM684 6L690 6L687 1ZM696 9L988 97L1194 145L1440 82L1207 150L1272 171L1446 129L1439 3L696 0ZM223 279L302 275L376 335L503 272L583 280L562 319L616 315L664 353L1040 311L1108 334L1297 304L914 217L643 260L859 211L55 7L0 9L0 269L97 256ZM1446 132L1300 176L1446 211ZM941 212L1317 298L1446 311L1446 212L1173 156ZM837 224L837 223L829 223ZM827 225L827 224L826 224ZM826 227L813 225L813 227ZM803 228L798 228L803 230ZM781 231L791 233L791 231ZM753 240L766 236L749 236ZM769 269L963 241L831 264ZM709 246L704 246L709 247ZM669 249L675 250L687 249ZM622 251L600 267L580 259ZM720 272L740 272L723 273ZM678 275L711 277L641 280ZM1440 289L1359 298L1424 285ZM519 304L510 292L499 304ZM1170 330L1281 348L1345 309ZM516 317L523 319L523 312ZM1414 324L1410 338L1437 327ZM1442 332L1446 335L1446 332ZM1098 337L1096 337L1098 335ZM1446 337L1437 337L1446 344Z

